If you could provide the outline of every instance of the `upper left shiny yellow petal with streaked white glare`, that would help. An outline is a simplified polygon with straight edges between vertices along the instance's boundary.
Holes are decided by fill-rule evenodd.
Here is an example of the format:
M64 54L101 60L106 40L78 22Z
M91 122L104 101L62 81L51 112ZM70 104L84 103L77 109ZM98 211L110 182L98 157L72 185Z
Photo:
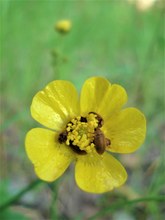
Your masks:
M38 92L32 101L32 117L55 130L62 129L79 113L78 94L68 81L56 80Z

